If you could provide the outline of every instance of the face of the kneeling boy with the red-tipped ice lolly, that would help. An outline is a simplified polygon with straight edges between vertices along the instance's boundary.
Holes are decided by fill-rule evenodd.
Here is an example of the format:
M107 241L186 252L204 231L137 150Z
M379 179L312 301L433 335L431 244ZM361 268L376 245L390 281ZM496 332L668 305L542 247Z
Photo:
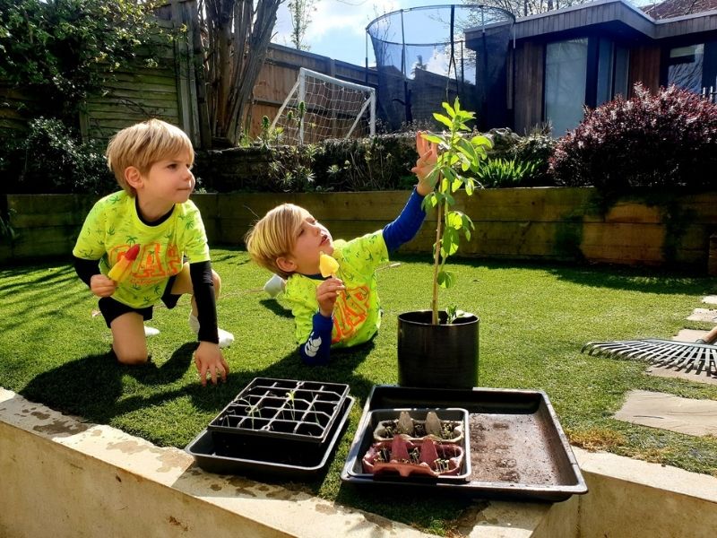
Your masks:
M194 190L194 174L189 152L157 161L142 175L142 185L137 188L143 201L166 204L183 204Z

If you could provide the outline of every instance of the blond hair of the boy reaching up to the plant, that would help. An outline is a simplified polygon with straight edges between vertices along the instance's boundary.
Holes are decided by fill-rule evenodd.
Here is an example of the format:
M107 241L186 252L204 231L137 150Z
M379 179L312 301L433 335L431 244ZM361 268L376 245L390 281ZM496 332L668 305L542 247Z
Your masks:
M272 273L289 278L291 273L281 269L276 260L291 254L297 242L298 229L308 214L306 209L294 204L274 207L246 233L244 241L249 256Z

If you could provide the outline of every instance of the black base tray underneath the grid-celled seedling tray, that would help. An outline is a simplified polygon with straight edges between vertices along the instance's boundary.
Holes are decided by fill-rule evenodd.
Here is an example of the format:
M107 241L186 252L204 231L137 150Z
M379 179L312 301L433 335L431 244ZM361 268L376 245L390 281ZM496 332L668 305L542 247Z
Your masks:
M349 420L354 399L346 396L341 402L338 418L333 421L329 436L321 445L305 443L296 450L287 449L278 441L273 449L258 447L253 435L238 434L241 439L231 454L217 453L212 432L203 430L185 450L204 471L218 474L242 474L259 479L309 480L326 466Z

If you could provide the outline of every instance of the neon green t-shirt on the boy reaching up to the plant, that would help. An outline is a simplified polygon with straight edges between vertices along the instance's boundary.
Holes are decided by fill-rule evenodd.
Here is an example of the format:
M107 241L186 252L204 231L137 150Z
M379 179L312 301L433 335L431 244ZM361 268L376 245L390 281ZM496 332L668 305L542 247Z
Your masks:
M383 230L333 246L333 257L339 262L336 276L346 291L336 299L333 308L333 347L350 347L367 342L381 326L381 313L376 291L376 267L388 261ZM292 274L286 283L285 299L296 318L297 341L306 342L319 309L316 288L323 282L303 274Z

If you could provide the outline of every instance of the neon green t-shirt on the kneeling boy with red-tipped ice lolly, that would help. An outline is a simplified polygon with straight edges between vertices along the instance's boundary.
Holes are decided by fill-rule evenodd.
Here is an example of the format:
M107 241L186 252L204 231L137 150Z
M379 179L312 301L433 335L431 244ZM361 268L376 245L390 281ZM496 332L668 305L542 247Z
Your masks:
M139 255L112 295L132 308L159 302L168 278L182 270L183 256L193 263L210 259L202 216L194 202L175 204L166 221L147 226L137 215L134 198L125 191L94 204L82 225L73 256L99 260L99 270L107 274L133 245L140 246Z

